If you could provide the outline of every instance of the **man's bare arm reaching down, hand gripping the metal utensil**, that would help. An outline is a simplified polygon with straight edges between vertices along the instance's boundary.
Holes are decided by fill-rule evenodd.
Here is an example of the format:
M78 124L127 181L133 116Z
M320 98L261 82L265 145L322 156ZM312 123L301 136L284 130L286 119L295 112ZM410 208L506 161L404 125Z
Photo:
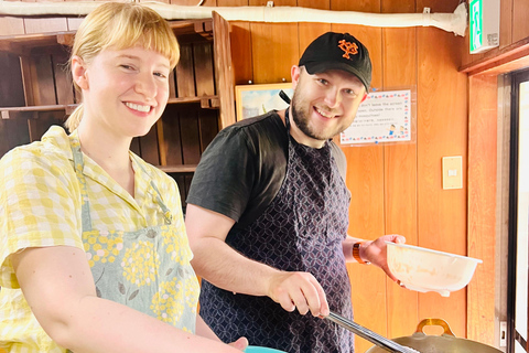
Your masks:
M185 225L197 275L236 293L268 296L287 311L328 314L325 292L314 276L278 270L227 245L226 236L234 224L235 221L225 215L187 204Z

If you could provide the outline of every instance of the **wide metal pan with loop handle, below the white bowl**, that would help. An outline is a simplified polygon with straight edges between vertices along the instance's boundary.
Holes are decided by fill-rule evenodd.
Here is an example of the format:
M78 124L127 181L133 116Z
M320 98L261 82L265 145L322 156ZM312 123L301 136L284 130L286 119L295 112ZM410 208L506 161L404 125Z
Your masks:
M427 335L423 332L425 325L440 325L443 328L444 333L441 335ZM494 346L456 338L450 329L449 323L443 319L424 319L419 322L417 331L412 335L397 338L392 341L415 349L422 353L501 353L500 350ZM378 346L371 346L366 353L385 353L385 351Z

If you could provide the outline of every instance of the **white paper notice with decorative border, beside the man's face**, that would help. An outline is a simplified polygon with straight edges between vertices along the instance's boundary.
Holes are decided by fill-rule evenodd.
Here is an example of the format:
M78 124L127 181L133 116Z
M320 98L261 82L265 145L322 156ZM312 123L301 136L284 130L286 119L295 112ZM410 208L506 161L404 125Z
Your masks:
M411 141L411 92L373 92L360 104L342 145Z

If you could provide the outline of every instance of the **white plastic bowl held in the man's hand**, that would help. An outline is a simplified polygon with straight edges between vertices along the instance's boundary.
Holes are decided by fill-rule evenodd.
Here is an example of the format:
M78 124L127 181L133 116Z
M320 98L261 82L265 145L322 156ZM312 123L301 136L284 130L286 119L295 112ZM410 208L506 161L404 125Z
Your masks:
M481 259L442 253L424 247L388 245L388 266L406 288L421 292L436 291L443 297L464 288Z

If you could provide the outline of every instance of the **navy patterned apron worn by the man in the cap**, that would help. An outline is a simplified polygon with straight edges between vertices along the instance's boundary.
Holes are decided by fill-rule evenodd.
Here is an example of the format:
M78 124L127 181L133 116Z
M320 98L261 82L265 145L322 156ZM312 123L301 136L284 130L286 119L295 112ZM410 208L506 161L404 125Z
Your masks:
M290 121L287 109L287 131ZM277 196L252 224L226 243L248 258L285 271L311 272L331 310L353 319L350 282L342 242L348 226L349 194L328 142L321 149L289 133L287 175ZM353 334L336 324L288 312L268 297L234 295L203 280L201 315L225 342L240 336L251 345L290 353L354 351Z

